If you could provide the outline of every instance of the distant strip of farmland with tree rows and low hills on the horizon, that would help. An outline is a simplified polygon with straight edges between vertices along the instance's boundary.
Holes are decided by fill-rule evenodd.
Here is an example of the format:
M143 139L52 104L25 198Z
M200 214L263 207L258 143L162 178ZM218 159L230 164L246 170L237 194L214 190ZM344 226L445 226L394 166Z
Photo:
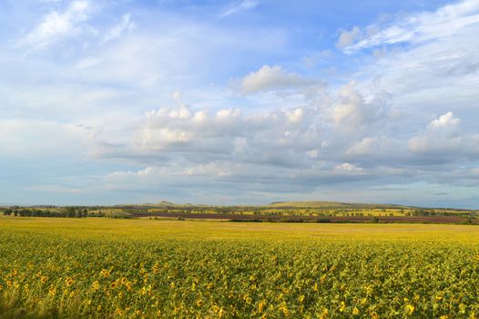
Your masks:
M215 206L168 201L116 206L0 207L0 214L22 217L179 218L240 221L437 222L479 223L479 212L391 204L336 201L273 202L268 205Z

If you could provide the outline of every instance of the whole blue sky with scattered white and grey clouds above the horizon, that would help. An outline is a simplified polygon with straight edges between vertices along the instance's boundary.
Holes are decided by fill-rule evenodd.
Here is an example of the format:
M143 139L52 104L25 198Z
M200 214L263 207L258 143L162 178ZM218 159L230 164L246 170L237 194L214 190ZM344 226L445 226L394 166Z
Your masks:
M0 203L479 209L479 0L3 0Z

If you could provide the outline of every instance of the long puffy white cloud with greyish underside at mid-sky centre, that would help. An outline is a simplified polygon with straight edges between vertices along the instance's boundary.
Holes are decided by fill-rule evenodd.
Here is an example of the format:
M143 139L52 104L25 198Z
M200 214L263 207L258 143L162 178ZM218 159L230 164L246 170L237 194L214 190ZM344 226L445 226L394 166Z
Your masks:
M243 114L239 108L216 112L177 108L159 108L146 114L136 147L144 151L196 152L227 156L229 160L268 160L275 149L288 152L321 147L317 114L311 108L288 108L271 112ZM298 150L295 150L295 149ZM254 156L253 156L254 155Z

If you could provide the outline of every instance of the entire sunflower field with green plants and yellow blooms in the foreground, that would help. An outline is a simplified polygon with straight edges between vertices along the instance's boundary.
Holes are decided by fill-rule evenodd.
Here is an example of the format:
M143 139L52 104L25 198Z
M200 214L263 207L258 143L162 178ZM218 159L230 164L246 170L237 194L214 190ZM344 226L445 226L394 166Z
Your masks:
M479 227L0 217L0 317L477 317Z

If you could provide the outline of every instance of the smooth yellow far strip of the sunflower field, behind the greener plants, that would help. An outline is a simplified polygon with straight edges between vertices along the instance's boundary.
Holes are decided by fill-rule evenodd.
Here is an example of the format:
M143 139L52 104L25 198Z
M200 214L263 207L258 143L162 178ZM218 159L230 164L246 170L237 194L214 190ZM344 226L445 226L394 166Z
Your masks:
M123 220L109 218L64 219L2 217L3 232L35 232L98 239L189 240L369 240L398 239L471 241L479 244L479 227L450 224L354 223L250 223L227 221Z

